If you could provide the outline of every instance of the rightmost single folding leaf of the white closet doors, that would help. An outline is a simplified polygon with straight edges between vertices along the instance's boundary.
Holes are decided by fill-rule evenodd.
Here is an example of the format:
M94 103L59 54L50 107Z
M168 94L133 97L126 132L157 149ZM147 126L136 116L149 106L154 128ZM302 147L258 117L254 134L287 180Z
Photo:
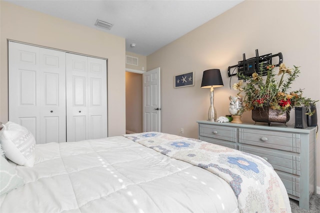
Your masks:
M89 138L107 136L106 60L88 57Z

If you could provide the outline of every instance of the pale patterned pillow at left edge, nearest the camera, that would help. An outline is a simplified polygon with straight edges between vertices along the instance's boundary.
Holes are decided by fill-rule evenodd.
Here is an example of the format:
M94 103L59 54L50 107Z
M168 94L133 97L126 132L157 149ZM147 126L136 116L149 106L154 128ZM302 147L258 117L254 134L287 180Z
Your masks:
M15 168L0 155L0 196L22 185L24 181Z

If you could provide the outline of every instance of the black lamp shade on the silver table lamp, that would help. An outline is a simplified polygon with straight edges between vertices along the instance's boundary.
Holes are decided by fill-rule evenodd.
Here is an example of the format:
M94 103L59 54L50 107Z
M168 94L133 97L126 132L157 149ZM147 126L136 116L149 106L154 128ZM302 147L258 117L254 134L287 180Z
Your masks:
M220 69L208 69L203 71L201 88L210 88L223 86Z

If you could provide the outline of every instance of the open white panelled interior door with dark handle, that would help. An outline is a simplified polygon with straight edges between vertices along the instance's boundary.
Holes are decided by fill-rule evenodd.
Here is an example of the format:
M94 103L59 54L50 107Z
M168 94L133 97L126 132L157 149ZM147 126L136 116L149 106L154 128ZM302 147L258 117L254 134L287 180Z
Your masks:
M143 73L143 131L161 131L160 68Z

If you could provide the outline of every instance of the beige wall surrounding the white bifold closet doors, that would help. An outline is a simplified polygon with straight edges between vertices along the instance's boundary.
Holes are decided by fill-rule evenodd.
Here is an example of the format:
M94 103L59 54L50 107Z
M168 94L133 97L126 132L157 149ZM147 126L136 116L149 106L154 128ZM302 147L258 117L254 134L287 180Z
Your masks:
M107 58L108 136L125 133L125 39L0 1L0 121L8 119L7 39Z

